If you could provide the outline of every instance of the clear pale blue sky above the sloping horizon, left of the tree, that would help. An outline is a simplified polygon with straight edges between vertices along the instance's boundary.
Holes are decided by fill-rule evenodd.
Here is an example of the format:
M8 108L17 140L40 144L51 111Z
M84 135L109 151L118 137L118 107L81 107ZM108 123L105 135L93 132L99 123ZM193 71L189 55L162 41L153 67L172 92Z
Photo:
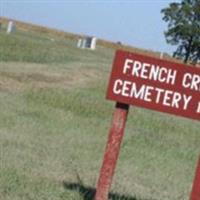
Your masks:
M178 0L0 0L0 16L172 53L161 9Z

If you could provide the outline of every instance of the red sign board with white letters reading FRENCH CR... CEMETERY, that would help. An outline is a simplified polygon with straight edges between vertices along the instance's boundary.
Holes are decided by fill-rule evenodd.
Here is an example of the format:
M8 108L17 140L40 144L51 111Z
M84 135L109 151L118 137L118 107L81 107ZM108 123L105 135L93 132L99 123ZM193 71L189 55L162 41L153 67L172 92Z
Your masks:
M107 99L200 120L200 69L119 50Z

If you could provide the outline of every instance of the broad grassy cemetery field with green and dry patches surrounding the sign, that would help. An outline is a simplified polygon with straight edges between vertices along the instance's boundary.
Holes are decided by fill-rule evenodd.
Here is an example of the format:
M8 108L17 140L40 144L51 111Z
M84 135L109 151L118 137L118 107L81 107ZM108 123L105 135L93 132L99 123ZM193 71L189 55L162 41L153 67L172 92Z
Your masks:
M92 200L114 102L114 50L0 32L0 199ZM187 200L200 124L131 107L111 200Z

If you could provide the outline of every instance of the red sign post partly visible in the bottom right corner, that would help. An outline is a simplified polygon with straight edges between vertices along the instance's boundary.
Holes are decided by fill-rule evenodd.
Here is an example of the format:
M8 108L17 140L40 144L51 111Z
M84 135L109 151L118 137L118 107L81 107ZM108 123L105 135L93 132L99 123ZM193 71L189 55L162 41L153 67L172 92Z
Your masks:
M200 157L197 164L190 200L200 200Z

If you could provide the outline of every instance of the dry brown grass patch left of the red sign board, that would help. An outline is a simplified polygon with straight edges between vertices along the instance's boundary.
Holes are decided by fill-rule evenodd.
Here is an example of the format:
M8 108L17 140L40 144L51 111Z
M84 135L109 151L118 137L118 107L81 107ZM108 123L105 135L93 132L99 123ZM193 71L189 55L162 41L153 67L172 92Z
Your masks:
M76 65L76 67L74 67ZM100 79L100 71L81 69L79 63L67 70L34 63L1 62L0 91L19 91L28 88L75 88L92 84Z

